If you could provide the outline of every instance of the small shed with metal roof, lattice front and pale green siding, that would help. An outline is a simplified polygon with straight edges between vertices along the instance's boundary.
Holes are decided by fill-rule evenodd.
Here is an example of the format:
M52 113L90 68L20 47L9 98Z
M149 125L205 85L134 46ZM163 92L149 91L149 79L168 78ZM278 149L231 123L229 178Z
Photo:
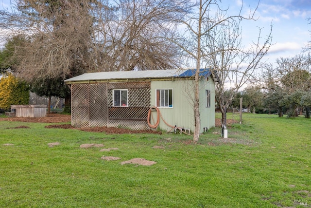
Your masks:
M192 132L194 74L190 69L99 72L67 79L71 125L141 130L153 129L158 121L161 130L176 125ZM215 82L208 69L200 70L199 85L203 132L215 126Z

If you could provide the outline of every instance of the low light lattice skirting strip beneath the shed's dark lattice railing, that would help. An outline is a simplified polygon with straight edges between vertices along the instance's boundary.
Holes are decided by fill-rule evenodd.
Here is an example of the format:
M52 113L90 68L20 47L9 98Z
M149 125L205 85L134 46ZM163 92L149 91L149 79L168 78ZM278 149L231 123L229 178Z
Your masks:
M126 127L132 130L146 130L151 129L148 126L147 121L138 121L138 120L109 120L108 127Z

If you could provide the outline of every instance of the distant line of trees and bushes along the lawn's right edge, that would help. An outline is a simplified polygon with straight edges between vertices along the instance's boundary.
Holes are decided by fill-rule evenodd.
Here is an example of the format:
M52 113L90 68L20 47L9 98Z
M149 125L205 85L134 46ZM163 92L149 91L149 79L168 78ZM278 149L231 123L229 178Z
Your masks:
M304 114L310 118L310 58L309 54L280 57L276 65L265 65L259 79L236 94L231 107L240 109L242 97L243 108L251 112L255 109L255 113L277 113L279 116L285 113L288 117Z

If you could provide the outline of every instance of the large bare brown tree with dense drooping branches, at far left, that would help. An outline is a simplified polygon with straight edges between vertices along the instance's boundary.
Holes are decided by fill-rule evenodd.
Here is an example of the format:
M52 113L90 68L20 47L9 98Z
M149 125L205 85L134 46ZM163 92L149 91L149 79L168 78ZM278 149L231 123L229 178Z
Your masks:
M92 18L87 0L15 3L13 12L0 12L0 27L28 37L27 44L15 50L21 77L32 81L74 76L94 67L88 51Z

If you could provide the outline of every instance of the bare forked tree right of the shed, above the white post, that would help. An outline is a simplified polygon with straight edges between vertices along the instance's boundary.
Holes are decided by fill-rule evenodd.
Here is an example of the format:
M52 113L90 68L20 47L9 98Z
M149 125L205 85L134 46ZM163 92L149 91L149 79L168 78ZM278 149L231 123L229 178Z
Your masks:
M247 84L254 72L261 66L262 57L268 52L272 40L270 34L261 38L261 28L257 41L252 42L249 48L242 45L241 21L256 20L254 11L243 17L240 14L225 18L215 25L207 21L206 30L212 28L204 39L204 58L207 66L217 73L219 82L216 82L216 100L222 112L222 125L226 126L226 111L236 93ZM226 15L227 10L219 10L220 17ZM242 8L241 8L242 11ZM225 99L224 92L230 88L230 95Z

